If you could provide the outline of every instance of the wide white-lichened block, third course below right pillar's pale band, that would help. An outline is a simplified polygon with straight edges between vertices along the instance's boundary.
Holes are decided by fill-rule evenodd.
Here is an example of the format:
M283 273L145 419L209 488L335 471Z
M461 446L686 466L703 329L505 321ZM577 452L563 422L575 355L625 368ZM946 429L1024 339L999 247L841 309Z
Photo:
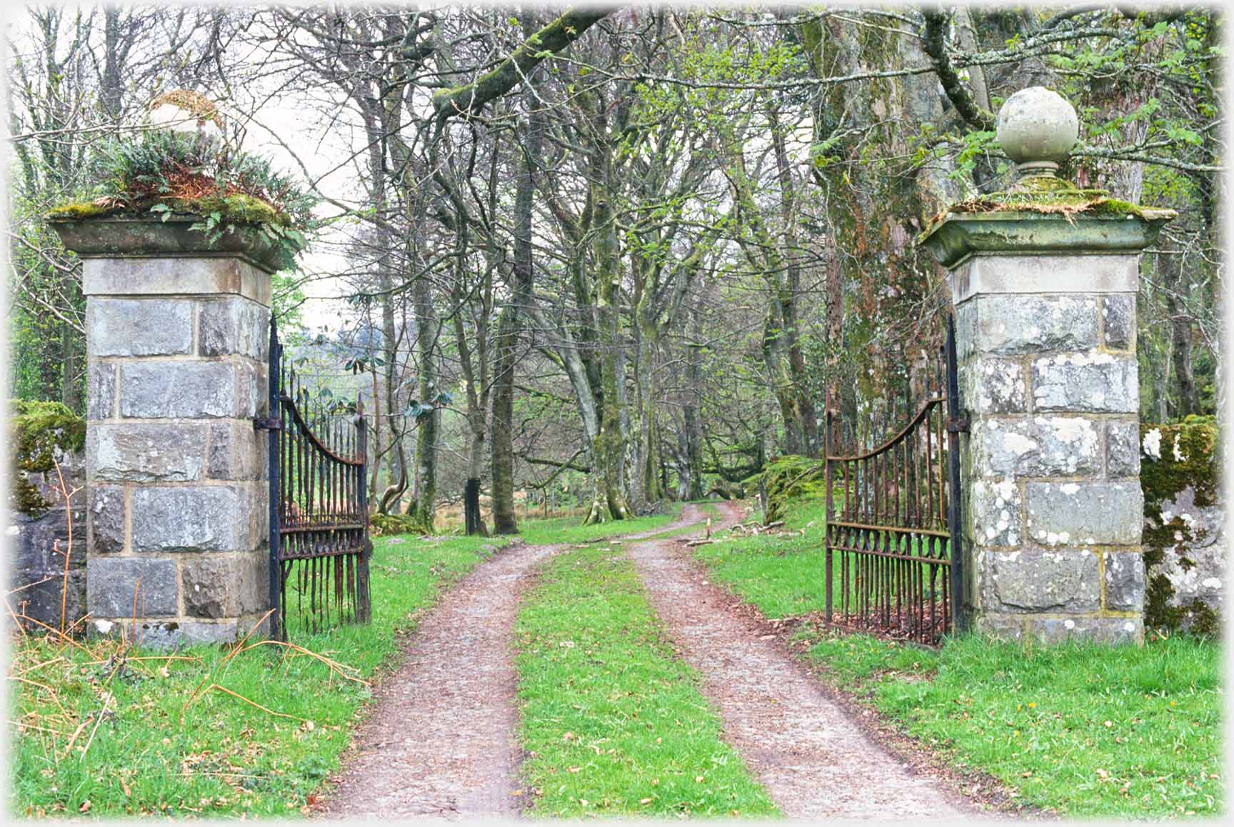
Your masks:
M1059 476L1101 470L1099 423L1085 417L983 418L972 425L976 474Z

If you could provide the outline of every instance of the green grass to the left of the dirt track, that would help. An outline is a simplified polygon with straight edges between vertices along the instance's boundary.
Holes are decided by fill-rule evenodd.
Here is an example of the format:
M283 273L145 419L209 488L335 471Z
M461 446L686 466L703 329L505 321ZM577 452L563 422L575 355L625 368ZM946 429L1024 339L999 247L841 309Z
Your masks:
M444 586L487 555L485 546L501 543L376 538L373 622L292 642L343 664L348 674L371 678L399 650L399 633L413 628ZM162 653L131 650L118 668L109 662L118 643L85 646L88 652L31 637L14 647L10 720L28 726L10 725L10 812L299 816L337 769L371 696L366 685L328 665L284 657L273 646L226 663L220 647L176 653L186 659L138 660ZM207 691L210 684L269 712Z

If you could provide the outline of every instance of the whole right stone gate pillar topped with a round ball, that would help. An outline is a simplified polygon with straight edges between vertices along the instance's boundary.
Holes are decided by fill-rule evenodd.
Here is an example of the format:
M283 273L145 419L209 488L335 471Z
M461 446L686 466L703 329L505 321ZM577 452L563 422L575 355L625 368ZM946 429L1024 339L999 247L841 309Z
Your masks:
M1140 252L1174 212L1055 177L1075 110L1034 86L998 114L1018 163L1006 193L951 207L922 237L950 269L966 592L1000 637L1141 642L1135 296Z

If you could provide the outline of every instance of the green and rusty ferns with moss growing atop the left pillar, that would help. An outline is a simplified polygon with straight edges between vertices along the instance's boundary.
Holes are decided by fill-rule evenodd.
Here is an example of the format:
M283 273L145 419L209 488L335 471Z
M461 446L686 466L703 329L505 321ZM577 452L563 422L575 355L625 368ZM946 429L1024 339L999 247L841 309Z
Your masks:
M49 218L188 215L194 230L217 238L253 227L278 252L280 269L295 267L315 227L317 199L260 156L218 138L163 130L102 142L94 156L95 197L56 207Z

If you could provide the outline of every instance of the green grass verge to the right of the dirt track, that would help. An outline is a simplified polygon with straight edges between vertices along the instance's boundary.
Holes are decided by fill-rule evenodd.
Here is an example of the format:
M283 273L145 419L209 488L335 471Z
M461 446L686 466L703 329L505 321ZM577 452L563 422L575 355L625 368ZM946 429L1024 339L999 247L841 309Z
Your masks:
M806 527L806 536L735 539L695 553L714 580L766 617L819 611L822 504L795 504L786 523ZM826 680L955 765L998 778L1019 801L1085 817L1223 808L1215 643L1044 647L960 637L927 650L812 626L801 634Z

